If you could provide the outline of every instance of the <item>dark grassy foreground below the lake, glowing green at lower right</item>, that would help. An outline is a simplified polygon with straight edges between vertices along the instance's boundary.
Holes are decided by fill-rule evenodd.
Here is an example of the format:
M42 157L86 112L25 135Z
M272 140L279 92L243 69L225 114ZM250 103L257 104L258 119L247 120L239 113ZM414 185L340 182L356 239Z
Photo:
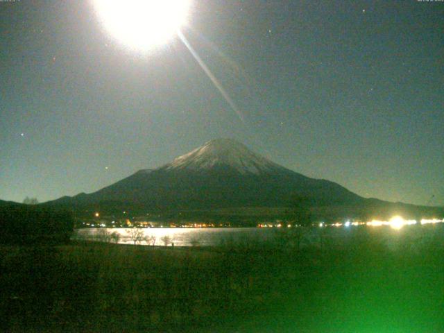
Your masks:
M397 248L345 242L216 248L3 246L2 332L444 332L442 226ZM419 244L413 232L427 232Z

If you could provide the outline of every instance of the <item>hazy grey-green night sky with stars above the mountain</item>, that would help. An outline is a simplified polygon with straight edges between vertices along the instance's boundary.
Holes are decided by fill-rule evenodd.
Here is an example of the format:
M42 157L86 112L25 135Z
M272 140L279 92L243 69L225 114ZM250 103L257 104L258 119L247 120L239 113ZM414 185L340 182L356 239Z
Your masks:
M0 198L92 192L230 137L365 197L444 205L444 2L193 0L141 53L89 1L0 2Z

